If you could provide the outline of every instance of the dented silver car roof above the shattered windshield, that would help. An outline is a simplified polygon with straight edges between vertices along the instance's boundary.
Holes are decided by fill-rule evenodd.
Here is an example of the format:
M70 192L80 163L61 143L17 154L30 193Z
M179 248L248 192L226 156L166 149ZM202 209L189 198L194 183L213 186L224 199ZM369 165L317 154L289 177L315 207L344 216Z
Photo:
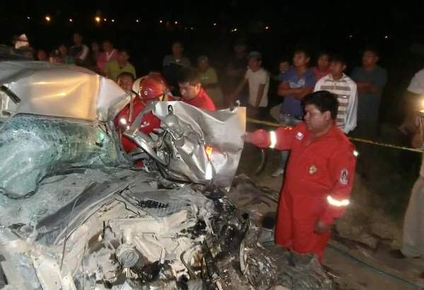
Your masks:
M118 84L83 67L49 62L0 62L0 85L21 101L5 101L0 108L12 116L45 116L108 121L129 101Z

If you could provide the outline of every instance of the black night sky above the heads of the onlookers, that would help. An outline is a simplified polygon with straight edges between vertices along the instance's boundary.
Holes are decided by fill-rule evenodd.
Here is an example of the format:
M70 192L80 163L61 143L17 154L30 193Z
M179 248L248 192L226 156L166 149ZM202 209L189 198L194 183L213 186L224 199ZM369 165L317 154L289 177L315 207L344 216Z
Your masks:
M263 65L270 70L299 44L312 53L342 53L350 60L349 69L358 64L362 48L374 45L382 52L389 78L396 79L387 89L394 100L389 106L396 106L396 95L424 66L424 46L422 55L411 57L411 45L424 43L424 1L417 2L8 0L0 4L0 44L10 45L13 35L26 33L33 48L50 51L60 43L71 45L72 33L79 31L88 45L109 38L130 50L141 74L160 69L175 39L183 40L192 60L206 54L218 69L225 66L232 43L240 37L248 40L251 50L263 52ZM108 21L96 24L96 15ZM237 31L231 32L234 28Z

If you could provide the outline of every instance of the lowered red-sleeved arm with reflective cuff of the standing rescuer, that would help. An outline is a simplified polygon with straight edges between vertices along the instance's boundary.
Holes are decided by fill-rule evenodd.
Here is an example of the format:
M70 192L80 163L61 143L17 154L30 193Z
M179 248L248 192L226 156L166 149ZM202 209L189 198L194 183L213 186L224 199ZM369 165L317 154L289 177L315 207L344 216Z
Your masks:
M353 150L353 145L339 147L330 157L328 174L334 185L326 197L326 210L316 222L316 233L325 233L330 230L331 224L343 215L350 203L350 191L353 188L356 165Z

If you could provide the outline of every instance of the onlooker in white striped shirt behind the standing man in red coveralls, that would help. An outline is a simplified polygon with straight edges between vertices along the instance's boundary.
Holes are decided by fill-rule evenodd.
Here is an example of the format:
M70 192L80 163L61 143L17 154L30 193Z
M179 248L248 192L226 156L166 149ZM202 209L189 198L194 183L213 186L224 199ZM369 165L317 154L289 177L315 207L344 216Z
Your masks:
M337 95L337 126L345 134L356 127L357 86L350 77L344 74L346 62L343 57L331 57L330 73L316 83L314 91L330 91Z

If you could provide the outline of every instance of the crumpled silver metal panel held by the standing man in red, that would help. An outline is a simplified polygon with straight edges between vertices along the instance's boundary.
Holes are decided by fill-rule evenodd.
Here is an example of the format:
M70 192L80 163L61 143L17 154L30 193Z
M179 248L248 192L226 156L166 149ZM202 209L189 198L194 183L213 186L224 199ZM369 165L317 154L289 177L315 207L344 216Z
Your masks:
M139 131L149 111L162 121L163 131L156 140ZM163 101L145 108L125 135L148 152L166 176L227 187L239 164L245 130L245 108L206 112L182 102Z

